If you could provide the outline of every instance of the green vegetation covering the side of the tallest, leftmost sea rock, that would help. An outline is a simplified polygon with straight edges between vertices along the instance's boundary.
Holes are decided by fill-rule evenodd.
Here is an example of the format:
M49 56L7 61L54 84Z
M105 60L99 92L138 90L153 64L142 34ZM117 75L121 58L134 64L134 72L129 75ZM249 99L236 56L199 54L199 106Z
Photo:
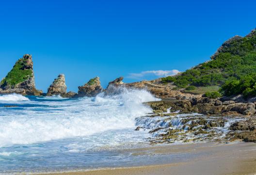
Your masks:
M0 86L15 86L28 78L32 77L31 69L24 69L26 66L25 58L19 59L14 65L13 69L2 79Z

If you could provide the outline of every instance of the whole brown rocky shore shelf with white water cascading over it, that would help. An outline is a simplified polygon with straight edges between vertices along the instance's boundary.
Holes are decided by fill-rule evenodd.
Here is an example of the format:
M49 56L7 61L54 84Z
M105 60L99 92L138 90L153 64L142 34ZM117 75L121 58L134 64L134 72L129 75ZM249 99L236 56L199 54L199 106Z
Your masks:
M145 117L158 117L156 125L161 126L149 133L153 132L154 135L160 137L160 139L153 140L154 143L194 142L197 140L230 142L236 139L256 143L255 103L223 103L218 99L209 98L147 102L146 104L153 109L155 114ZM207 116L191 115L191 113L206 114ZM144 120L143 117L142 120ZM150 120L154 121L154 119ZM232 123L232 120L238 121ZM177 121L179 121L178 124ZM158 125L162 122L164 122L163 125ZM230 127L226 125L227 122L231 122ZM217 129L220 127L225 128L225 131L228 132L220 133L220 130Z

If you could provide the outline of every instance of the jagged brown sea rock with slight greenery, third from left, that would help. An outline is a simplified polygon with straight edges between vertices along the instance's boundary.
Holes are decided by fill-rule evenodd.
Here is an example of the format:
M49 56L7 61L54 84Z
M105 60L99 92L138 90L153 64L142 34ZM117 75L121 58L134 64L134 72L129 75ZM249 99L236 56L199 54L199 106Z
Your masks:
M103 91L99 77L90 79L85 85L78 87L78 89L77 97L95 97Z

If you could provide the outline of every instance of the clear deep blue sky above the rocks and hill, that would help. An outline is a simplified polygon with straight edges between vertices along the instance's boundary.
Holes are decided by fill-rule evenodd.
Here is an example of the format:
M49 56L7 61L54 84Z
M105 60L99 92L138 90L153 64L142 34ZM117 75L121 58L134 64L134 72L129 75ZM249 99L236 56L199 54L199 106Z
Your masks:
M185 71L256 28L255 7L255 0L1 1L0 77L23 54L32 54L44 91L60 73L77 91L95 76L106 86L118 76L132 82L157 77L145 71Z

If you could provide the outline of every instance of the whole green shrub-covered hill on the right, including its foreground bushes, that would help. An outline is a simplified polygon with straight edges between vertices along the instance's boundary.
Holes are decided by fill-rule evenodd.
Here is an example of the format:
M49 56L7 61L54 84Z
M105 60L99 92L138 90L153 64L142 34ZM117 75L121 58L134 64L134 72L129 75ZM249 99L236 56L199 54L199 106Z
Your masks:
M256 29L222 44L211 60L176 76L162 78L178 88L222 86L223 95L256 95ZM194 86L194 87L193 87Z

